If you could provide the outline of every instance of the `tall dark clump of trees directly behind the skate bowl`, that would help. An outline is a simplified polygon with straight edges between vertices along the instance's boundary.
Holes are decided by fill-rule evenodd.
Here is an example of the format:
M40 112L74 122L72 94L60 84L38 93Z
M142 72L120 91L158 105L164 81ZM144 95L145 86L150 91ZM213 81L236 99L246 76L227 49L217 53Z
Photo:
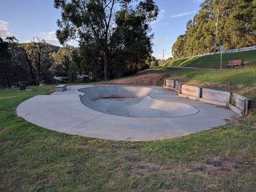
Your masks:
M61 9L57 37L77 41L78 68L109 79L143 67L152 53L149 23L157 18L153 0L55 0Z

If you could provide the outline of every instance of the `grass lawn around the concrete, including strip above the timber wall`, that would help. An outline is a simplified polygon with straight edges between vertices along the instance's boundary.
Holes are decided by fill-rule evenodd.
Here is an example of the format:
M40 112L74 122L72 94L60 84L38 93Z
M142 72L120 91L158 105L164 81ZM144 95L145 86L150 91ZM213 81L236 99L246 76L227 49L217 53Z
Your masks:
M246 74L182 70L141 74L213 84ZM234 81L255 87L254 79ZM181 138L108 141L57 133L18 117L19 103L50 94L51 86L30 89L0 91L0 191L256 191L255 114Z

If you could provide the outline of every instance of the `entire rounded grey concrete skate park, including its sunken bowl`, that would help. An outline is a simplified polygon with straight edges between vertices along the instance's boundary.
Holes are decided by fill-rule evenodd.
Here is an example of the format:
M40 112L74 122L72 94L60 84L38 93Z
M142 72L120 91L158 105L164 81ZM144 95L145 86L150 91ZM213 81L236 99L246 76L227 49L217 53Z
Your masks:
M119 85L68 86L22 102L17 113L45 129L124 141L181 137L225 125L236 116L163 87Z

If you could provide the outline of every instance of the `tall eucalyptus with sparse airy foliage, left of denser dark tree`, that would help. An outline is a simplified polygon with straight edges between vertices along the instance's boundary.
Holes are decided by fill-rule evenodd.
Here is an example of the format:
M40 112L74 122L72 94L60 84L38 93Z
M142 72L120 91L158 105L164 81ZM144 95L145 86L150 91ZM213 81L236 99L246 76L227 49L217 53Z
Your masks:
M60 43L71 40L79 42L86 57L98 58L98 65L103 64L104 79L111 76L109 70L113 69L114 50L125 46L124 42L117 41L121 35L125 35L121 34L123 30L119 27L123 23L116 22L118 15L124 10L134 12L126 16L140 18L138 22L143 25L149 25L158 15L158 7L153 0L138 3L133 0L54 0L54 6L62 11L56 33ZM129 27L130 32L138 29Z

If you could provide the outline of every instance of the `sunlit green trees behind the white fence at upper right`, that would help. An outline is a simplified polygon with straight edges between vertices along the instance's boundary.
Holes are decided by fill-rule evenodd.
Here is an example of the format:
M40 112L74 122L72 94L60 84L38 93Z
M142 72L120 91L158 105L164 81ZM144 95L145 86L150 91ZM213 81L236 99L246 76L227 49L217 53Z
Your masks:
M221 44L226 49L256 45L256 0L205 0L187 22L186 33L174 43L174 59L214 51L218 10L217 48Z

